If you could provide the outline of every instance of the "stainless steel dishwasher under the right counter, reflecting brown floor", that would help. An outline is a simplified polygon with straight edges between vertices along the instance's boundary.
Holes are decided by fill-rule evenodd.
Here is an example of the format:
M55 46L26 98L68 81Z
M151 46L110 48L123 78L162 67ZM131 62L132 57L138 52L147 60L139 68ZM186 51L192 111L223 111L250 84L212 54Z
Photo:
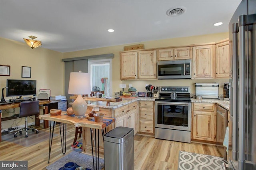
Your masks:
M221 156L227 160L226 148L223 146L223 141L228 126L228 110L220 105L217 105L217 128L216 128L216 143L220 150Z

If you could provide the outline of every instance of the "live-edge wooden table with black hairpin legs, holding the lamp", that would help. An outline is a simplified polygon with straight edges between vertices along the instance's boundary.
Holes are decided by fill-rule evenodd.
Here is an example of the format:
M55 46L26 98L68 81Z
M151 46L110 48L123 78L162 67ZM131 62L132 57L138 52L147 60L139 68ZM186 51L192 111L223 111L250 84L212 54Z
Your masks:
M47 120L47 121L54 121L53 123L53 128L52 128L52 135L51 135L51 125L52 123L50 123L50 140L49 140L49 156L48 156L48 163L50 163L50 152L51 152L51 144L52 144L52 137L53 137L53 133L54 133L54 126L55 126L55 122L59 122L62 123L62 132L63 134L61 134L61 127L60 127L60 140L61 140L61 144L62 144L62 135L63 135L63 145L62 146L62 153L65 154L66 152L66 128L65 128L65 134L64 134L64 124L71 124L74 125L75 127L86 127L86 128L90 128L91 129L91 142L93 142L92 139L92 128L94 128L95 130L95 156L96 156L96 169L97 169L97 158L98 158L98 164L99 164L99 150L98 150L98 157L97 157L97 137L96 137L96 130L98 130L98 147L99 147L99 130L102 130L102 137L103 137L103 129L106 128L108 125L111 125L112 123L115 122L115 118L111 118L111 117L104 117L103 118L103 122L94 122L92 120L86 119L86 118L82 118L82 119L78 119L72 116L68 116L68 115L58 115L58 116L51 116L50 114L46 114L46 115L39 115L39 119L43 119L43 120ZM105 120L105 121L104 121ZM61 126L59 124L59 126ZM83 133L83 148L85 147L85 134ZM51 137L52 136L52 137ZM104 138L103 138L104 139ZM93 145L92 145L92 160L94 162L94 152L93 152ZM99 168L99 166L98 166Z

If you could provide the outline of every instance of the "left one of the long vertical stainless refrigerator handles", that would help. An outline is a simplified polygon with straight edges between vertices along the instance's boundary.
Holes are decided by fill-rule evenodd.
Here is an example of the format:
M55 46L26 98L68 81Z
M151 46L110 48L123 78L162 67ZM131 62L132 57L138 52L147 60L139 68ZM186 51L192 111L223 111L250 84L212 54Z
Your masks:
M238 119L238 111L237 111L237 103L238 103L238 98L237 98L237 85L238 85L238 23L232 24L232 36L233 36L233 43L232 43L232 49L233 49L233 58L232 58L232 84L231 84L231 90L232 90L232 97L231 97L231 102L232 102L232 117L233 117L233 124L232 124L232 159L233 160L238 160L238 124L237 124L237 119Z

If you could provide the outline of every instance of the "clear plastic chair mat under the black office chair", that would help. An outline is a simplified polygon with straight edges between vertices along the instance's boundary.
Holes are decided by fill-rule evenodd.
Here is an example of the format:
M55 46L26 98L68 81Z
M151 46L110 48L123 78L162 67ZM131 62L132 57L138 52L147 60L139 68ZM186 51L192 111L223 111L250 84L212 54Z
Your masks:
M6 140L8 142L16 143L21 146L33 146L34 144L38 144L45 140L49 142L49 132L43 132L39 130L39 133L36 131L32 132L32 130L28 131L28 137L25 137L26 132L23 131L22 134L17 133L17 137L14 138L14 133L8 133L2 136L2 140ZM53 136L57 136L57 134L53 134Z

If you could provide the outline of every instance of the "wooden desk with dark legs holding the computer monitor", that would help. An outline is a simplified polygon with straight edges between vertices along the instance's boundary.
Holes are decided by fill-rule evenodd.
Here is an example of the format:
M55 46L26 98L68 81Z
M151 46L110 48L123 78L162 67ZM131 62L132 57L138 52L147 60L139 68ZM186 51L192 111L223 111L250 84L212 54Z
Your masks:
M48 105L50 103L56 103L60 100L39 100L39 109L43 109L43 114L48 114ZM7 105L0 105L0 110L5 110L5 109L12 109L12 108L17 108L20 107L20 103L14 103L14 104L7 104ZM2 113L1 113L2 114ZM2 117L0 116L0 124L1 124L1 119ZM38 119L38 115L35 116L35 126L40 125L40 120ZM44 128L48 128L48 121L44 121ZM1 129L2 130L2 129ZM0 135L0 142L2 141L2 135Z

